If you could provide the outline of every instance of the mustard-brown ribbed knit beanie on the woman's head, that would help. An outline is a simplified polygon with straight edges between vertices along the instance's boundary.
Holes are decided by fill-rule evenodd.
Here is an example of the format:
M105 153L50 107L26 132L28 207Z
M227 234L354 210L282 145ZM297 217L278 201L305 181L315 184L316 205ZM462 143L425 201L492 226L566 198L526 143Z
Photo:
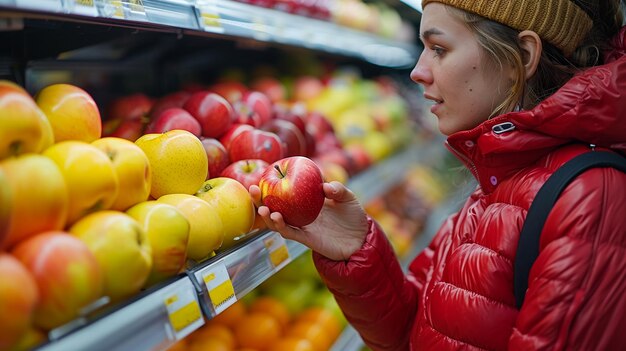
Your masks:
M456 7L519 31L532 30L570 56L593 21L576 0L422 0Z

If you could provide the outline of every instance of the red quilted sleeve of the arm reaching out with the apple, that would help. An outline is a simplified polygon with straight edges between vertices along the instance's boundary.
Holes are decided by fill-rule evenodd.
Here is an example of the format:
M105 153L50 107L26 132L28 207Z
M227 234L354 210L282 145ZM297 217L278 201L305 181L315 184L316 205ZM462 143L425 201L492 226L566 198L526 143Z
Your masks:
M332 261L317 253L313 259L346 318L370 348L408 350L434 244L411 265L411 271L420 273L405 275L382 229L371 219L369 223L363 247L348 261Z

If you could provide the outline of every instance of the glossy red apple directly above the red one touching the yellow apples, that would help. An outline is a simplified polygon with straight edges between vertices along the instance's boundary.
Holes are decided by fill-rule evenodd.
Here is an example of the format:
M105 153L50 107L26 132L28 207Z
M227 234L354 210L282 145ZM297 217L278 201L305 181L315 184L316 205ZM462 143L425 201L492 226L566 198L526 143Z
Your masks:
M194 93L183 106L200 122L202 136L218 138L232 124L233 107L223 97L208 91Z

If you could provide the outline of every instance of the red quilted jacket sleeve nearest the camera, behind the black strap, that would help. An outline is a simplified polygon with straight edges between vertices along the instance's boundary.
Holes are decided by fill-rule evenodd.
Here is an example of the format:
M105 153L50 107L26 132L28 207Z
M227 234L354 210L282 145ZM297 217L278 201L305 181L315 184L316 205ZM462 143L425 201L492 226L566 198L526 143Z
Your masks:
M572 182L541 235L509 350L626 347L626 174Z

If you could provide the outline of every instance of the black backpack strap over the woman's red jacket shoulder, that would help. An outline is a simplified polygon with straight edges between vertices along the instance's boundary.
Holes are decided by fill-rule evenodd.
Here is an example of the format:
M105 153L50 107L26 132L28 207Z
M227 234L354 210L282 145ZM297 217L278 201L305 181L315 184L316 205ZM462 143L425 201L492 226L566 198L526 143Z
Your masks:
M518 309L524 303L530 267L539 256L539 237L548 214L563 189L579 174L595 167L613 167L626 173L626 158L608 151L578 155L557 169L537 192L520 233L513 265L513 291Z

